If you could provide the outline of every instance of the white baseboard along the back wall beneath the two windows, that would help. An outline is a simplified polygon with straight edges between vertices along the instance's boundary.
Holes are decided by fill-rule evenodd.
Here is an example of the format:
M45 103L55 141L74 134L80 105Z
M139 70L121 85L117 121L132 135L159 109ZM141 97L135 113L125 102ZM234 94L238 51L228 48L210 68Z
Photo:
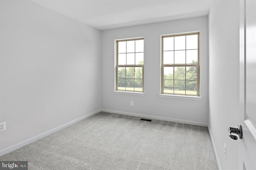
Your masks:
M168 117L142 115L142 114L137 114L137 113L129 113L129 112L124 112L124 111L116 111L116 110L108 110L108 109L101 109L101 111L108 112L108 113L116 113L116 114L120 114L120 115L143 117L143 118L148 118L148 119L172 121L172 122L184 123L184 124L190 124L190 125L199 125L199 126L206 126L206 127L208 126L207 123L196 122L196 121L186 121L186 120L181 120L181 119L172 119L172 118L168 118Z

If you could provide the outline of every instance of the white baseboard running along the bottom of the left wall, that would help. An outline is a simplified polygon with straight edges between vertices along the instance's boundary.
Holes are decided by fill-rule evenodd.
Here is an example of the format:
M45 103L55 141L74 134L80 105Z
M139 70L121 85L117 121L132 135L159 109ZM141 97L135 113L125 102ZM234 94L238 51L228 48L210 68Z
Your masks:
M17 144L15 144L15 145L11 146L11 147L8 147L8 148L6 148L6 149L0 150L0 156L2 156L2 155L4 155L4 154L7 154L7 153L9 153L9 152L12 152L13 150L19 149L20 147L23 147L23 146L25 146L25 145L28 145L29 143L32 143L32 142L34 142L34 141L36 141L36 140L38 140L38 139L41 139L41 138L43 138L43 137L45 137L45 136L47 136L47 135L50 135L50 134L52 134L52 133L54 133L54 132L56 132L56 131L59 131L60 129L63 129L63 128L65 128L65 127L68 127L68 126L70 126L70 125L73 125L74 123L77 123L77 122L79 122L79 121L81 121L81 120L83 120L83 119L86 119L87 117L90 117L90 116L92 116L92 115L95 115L96 113L99 113L101 110L102 110L102 109L99 109L99 110L97 110L97 111L94 111L94 112L92 112L92 113L89 113L89 114L87 114L87 115L84 115L84 116L82 116L82 117L80 117L80 118L78 118L78 119L75 119L75 120L73 120L73 121L70 121L70 122L68 122L68 123L66 123L66 124L64 124L64 125L61 125L61 126L59 126L59 127L56 127L56 128L54 128L54 129L52 129L52 130L50 130L50 131L44 132L44 133L42 133L42 134L40 134L40 135L37 135L37 136L32 137L32 138L30 138L30 139L27 139L26 141L22 141L22 142L20 142L20 143L17 143Z

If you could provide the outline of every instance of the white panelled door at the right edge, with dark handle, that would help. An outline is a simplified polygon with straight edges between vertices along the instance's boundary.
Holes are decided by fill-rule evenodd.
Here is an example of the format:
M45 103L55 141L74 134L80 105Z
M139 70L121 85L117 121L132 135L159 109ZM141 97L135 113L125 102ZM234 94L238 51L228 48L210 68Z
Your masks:
M240 0L239 169L256 170L256 0Z

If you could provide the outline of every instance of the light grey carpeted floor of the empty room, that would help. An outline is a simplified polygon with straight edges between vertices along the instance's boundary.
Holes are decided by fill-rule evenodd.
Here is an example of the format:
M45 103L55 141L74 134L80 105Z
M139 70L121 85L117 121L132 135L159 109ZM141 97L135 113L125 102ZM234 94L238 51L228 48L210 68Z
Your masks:
M100 112L0 156L30 170L218 170L207 127Z

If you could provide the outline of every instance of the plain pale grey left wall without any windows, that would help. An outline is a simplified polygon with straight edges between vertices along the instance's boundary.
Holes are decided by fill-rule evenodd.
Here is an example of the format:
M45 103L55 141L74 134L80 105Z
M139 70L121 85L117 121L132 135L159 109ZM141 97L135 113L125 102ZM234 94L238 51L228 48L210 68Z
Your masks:
M101 109L99 30L0 1L0 150Z

